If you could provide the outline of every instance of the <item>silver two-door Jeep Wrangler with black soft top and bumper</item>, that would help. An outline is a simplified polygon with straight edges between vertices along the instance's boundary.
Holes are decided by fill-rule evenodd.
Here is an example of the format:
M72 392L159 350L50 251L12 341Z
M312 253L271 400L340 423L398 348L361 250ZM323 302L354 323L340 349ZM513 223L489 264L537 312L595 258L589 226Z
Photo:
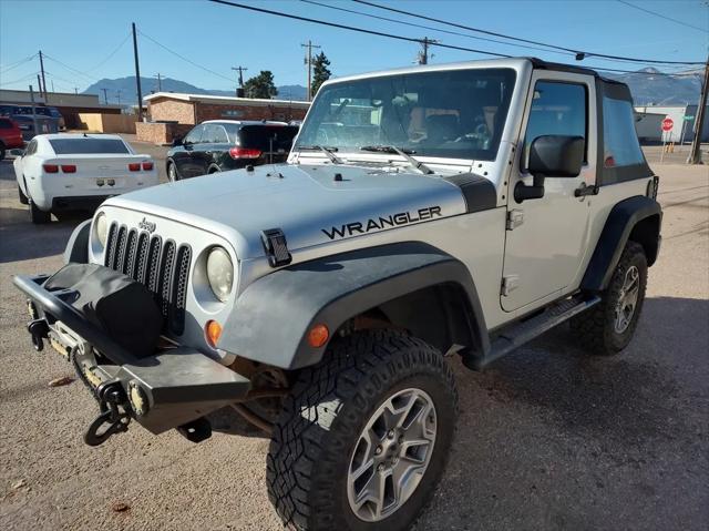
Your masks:
M230 406L270 432L285 523L407 529L453 441L446 356L480 370L565 321L620 353L657 187L624 84L535 59L407 68L323 84L286 164L114 197L75 229L66 263L162 314L148 355L110 326L130 303L89 319L76 288L14 284L35 346L100 404L86 442L131 420L199 441Z

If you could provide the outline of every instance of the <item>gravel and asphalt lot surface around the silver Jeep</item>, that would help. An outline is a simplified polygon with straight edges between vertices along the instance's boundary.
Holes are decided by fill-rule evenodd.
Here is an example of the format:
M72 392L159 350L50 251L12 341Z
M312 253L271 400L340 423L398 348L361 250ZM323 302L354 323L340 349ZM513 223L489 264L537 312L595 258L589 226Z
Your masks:
M482 374L455 362L458 440L419 530L707 529L709 172L649 159L664 243L635 340L592 359L563 328ZM30 347L10 283L59 268L79 221L32 226L0 162L0 529L282 529L264 483L268 440L237 417L217 416L201 445L136 425L82 442L96 406L78 381L48 386L72 370Z

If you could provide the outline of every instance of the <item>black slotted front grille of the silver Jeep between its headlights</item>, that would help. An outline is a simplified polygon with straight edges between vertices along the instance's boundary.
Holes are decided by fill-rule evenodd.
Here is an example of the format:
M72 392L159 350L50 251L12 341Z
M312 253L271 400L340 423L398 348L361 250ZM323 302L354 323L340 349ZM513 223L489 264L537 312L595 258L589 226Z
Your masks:
M146 286L155 297L167 330L182 335L192 249L158 235L112 223L105 266Z

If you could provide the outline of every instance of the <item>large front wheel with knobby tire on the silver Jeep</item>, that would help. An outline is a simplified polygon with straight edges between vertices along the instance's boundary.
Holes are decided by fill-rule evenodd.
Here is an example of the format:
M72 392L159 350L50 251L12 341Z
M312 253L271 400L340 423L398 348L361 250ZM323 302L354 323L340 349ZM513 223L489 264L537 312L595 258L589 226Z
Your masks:
M443 473L453 374L434 348L390 330L338 340L284 400L268 496L299 530L409 529Z

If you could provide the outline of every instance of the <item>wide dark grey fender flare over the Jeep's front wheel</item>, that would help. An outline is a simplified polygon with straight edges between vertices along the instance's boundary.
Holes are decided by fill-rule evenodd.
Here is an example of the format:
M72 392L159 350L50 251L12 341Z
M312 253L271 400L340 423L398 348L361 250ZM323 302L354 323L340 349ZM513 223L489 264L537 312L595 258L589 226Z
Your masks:
M327 344L307 334L323 324L332 340L354 316L425 288L450 286L465 306L467 349L490 349L485 319L471 274L453 256L421 242L403 242L330 255L285 267L250 284L238 297L217 347L284 369L317 364ZM422 307L423 315L432 308ZM456 320L456 321L458 321ZM460 327L459 327L460 328ZM460 336L456 336L460 337ZM458 341L456 341L458 344ZM450 346L450 345L449 345Z

